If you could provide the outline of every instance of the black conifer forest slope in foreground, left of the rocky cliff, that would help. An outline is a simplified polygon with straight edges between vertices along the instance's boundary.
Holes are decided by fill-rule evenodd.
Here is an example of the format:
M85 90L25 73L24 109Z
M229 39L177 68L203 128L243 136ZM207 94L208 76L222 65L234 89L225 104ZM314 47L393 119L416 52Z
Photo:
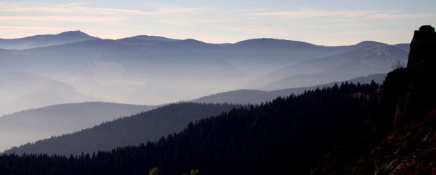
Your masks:
M189 123L139 146L80 156L8 154L0 174L307 174L374 109L379 85L334 85ZM156 169L155 169L156 170Z

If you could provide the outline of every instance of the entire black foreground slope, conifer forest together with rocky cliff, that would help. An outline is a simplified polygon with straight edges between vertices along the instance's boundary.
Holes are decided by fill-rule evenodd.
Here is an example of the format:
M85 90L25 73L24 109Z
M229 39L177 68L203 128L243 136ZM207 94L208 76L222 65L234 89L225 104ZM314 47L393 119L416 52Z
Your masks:
M158 141L95 154L2 155L0 172L431 174L434 48L434 28L422 26L407 67L390 72L382 86L342 83L309 90L189 123ZM388 55L383 51L374 53Z

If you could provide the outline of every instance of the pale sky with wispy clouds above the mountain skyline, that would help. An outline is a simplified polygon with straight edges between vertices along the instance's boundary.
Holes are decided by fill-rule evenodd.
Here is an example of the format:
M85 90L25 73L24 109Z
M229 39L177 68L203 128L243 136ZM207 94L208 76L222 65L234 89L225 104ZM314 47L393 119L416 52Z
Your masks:
M436 1L0 1L0 38L80 30L102 39L154 35L235 43L275 38L317 45L410 43L436 26Z

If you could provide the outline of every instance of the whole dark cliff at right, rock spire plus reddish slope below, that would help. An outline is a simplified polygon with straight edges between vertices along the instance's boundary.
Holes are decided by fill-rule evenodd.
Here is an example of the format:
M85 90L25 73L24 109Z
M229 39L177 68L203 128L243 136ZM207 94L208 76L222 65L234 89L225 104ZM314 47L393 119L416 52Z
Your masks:
M313 174L436 174L436 32L415 31L406 68L386 76L370 122Z

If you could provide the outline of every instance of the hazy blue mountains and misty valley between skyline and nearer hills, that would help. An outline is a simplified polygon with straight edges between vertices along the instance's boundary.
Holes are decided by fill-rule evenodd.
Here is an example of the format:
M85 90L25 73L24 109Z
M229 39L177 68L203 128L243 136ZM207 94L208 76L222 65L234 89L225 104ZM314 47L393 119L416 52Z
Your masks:
M75 37L84 41L72 43ZM59 103L160 105L230 90L319 85L386 73L408 55L401 45L371 41L338 47L279 39L210 44L144 35L98 39L80 31L1 45L8 48L0 50L1 115Z

